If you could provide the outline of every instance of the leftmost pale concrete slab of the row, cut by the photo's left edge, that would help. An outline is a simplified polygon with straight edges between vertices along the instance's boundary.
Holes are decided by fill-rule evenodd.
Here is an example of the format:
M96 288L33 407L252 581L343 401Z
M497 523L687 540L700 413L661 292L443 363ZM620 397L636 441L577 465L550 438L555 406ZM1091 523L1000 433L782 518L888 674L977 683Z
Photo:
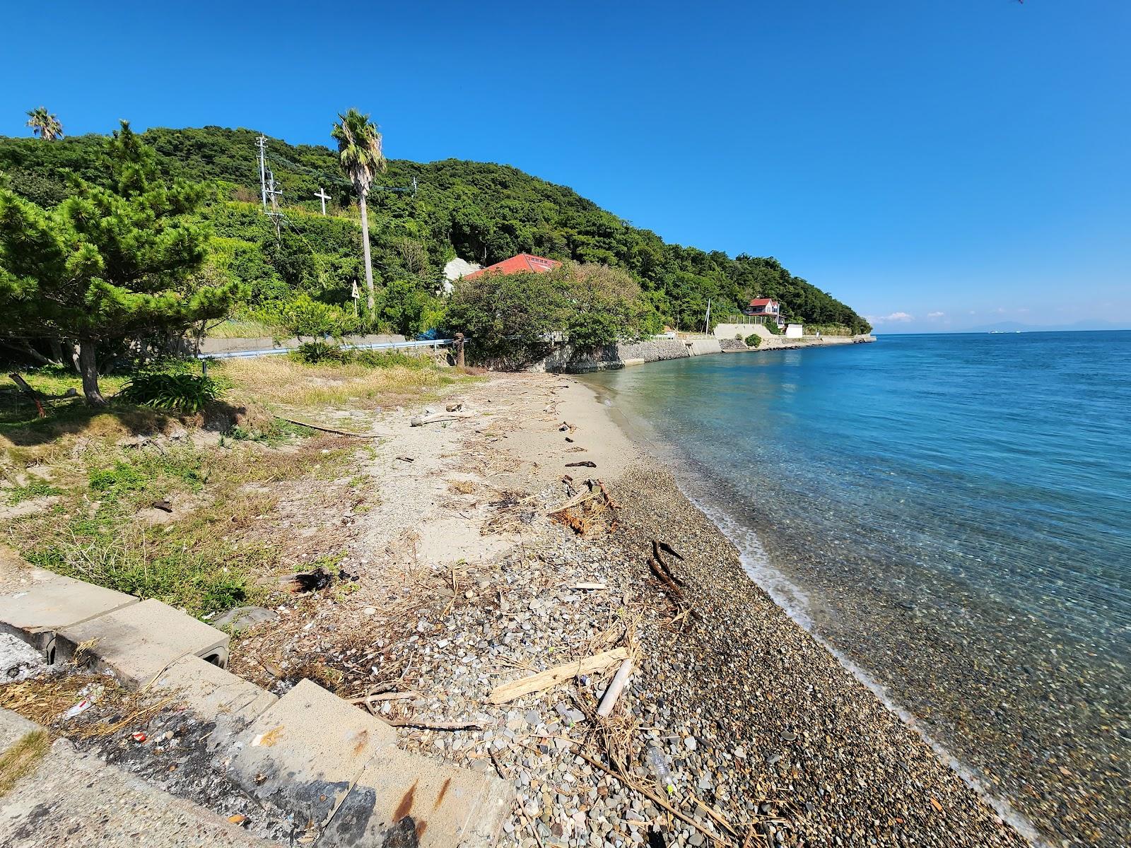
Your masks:
M34 568L21 570L5 589L0 630L42 651L50 651L57 631L138 603L132 595Z

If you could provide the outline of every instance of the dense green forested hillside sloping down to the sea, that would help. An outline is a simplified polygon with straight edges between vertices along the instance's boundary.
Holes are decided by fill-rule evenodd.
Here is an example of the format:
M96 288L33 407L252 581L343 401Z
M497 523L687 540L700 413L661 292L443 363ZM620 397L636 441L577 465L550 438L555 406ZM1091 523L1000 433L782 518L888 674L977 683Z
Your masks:
M156 150L166 175L216 187L201 213L214 233L208 272L247 284L243 311L269 314L302 292L348 303L352 282L362 276L361 236L335 153L268 141L267 165L282 188L285 213L276 237L260 207L257 135L205 127L153 129L141 139ZM103 142L102 136L0 138L0 179L24 198L53 207L69 193L68 171L94 183L106 179ZM575 191L513 167L390 159L379 183L409 189L374 189L369 200L378 320L388 329L414 332L442 321L443 300L434 295L449 259L492 263L523 251L625 269L639 282L657 328L700 328L708 298L719 318L752 296L768 296L780 300L793 320L869 329L851 308L772 258L667 244ZM331 196L327 217L314 197L319 189Z

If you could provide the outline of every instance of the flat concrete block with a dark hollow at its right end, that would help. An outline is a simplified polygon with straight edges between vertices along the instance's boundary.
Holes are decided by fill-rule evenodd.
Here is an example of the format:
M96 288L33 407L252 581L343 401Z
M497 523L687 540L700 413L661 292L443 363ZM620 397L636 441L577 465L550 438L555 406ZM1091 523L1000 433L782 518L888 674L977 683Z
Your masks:
M95 666L145 684L184 656L226 666L227 642L227 633L150 598L60 629L55 661L74 658L81 644Z

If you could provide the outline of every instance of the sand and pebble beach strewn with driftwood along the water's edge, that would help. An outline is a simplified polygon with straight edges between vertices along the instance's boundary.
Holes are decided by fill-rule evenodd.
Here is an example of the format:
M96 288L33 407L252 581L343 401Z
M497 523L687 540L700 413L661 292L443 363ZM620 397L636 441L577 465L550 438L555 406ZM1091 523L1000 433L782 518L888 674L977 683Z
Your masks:
M646 845L650 831L668 846L1025 845L746 577L593 390L492 374L444 400L474 415L374 423L385 439L359 471L380 499L349 517L340 561L355 589L252 630L233 670L280 691L313 666L347 696L407 692L377 702L387 718L482 728L403 727L400 744L512 780L507 846ZM573 527L549 514L590 478L611 503L573 510ZM663 555L677 590L648 565L654 539L682 557ZM634 670L608 719L594 711L614 668L489 700L615 647ZM601 768L616 763L629 780Z

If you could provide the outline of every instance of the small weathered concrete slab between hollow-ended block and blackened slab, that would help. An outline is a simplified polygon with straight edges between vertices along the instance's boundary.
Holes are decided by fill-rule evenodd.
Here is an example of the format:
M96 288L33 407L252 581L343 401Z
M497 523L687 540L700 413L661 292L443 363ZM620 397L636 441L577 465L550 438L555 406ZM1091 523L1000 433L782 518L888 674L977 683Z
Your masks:
M209 753L249 727L278 700L270 692L195 655L181 657L161 672L154 686L173 691L181 704L215 725L208 736Z

